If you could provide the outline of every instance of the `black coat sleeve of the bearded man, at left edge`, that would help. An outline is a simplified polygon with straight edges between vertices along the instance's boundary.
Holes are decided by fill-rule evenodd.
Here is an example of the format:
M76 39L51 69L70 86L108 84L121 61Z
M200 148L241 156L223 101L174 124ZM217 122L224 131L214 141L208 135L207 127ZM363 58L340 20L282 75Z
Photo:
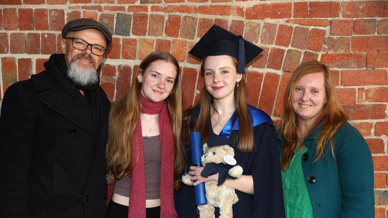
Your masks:
M5 92L0 114L0 217L29 217L28 174L34 128L32 104L16 83Z

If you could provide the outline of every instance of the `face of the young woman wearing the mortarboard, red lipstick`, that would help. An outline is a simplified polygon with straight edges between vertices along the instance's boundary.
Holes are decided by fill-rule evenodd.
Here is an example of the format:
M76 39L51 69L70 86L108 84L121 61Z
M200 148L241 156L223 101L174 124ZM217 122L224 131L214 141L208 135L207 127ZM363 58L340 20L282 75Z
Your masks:
M206 90L213 99L234 98L236 82L242 78L236 64L228 55L208 56L203 65Z

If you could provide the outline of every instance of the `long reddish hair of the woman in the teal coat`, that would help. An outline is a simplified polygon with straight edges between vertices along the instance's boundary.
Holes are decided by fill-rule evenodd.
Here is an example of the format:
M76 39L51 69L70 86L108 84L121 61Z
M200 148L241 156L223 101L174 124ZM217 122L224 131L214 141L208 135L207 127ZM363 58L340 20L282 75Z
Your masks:
M320 130L320 138L317 140L317 148L315 149L315 161L317 161L320 157L323 159L325 158L324 148L327 142L330 144L331 153L335 159L334 133L338 130L341 124L348 119L348 116L341 107L340 100L338 100L336 83L329 68L318 61L305 62L301 64L292 74L286 91L284 92L284 109L277 130L282 133L284 138L283 155L281 160L281 168L283 171L288 170L289 164L294 155L294 150L298 144L298 138L296 135L298 119L292 106L296 84L307 74L321 72L323 72L325 78L324 85L326 89L327 102L322 108L322 112L319 114L315 123L312 125L312 128L309 130L309 133L315 126L318 125L318 123L320 123L322 129Z

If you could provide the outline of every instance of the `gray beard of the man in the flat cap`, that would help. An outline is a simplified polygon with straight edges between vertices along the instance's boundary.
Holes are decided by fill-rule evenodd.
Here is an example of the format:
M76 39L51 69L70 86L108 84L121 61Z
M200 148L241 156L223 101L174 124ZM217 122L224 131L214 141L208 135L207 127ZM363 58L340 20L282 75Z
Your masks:
M69 65L66 74L76 86L85 87L94 85L98 82L97 70L94 69L94 67L83 69L78 67L77 64L73 61Z

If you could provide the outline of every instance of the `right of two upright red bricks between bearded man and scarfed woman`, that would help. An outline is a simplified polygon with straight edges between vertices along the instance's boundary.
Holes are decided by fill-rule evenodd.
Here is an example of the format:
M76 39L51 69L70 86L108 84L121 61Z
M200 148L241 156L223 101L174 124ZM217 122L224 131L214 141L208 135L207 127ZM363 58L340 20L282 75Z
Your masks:
M117 67L118 76L116 81L116 100L123 99L130 89L132 69L129 65L119 65Z

